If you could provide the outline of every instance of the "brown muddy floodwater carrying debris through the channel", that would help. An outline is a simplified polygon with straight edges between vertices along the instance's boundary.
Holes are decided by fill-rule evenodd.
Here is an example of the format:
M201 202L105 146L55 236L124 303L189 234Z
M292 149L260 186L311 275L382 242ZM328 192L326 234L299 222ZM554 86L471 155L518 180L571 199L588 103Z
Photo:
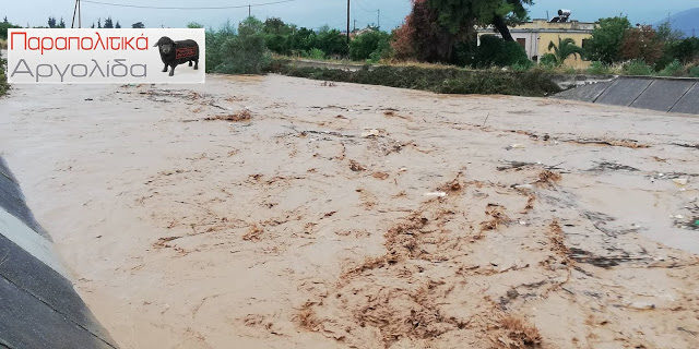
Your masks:
M699 348L699 118L268 76L15 86L122 348Z

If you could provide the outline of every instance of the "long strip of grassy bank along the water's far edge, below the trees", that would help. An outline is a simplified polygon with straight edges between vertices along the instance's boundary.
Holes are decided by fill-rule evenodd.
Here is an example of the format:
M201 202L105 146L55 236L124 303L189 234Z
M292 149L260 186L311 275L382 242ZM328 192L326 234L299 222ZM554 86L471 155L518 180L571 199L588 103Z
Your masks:
M275 59L272 73L333 82L424 89L442 94L502 94L542 97L560 91L543 70L524 72L466 70L416 65L364 67L358 71L297 67L292 60Z

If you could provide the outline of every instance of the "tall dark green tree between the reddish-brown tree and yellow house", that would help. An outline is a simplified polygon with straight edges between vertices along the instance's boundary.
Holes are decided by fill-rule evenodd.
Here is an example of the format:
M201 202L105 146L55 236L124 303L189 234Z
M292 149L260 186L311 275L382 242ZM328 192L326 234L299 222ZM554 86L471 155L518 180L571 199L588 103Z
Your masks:
M533 0L429 0L439 23L458 37L473 34L473 25L493 25L506 41L514 41L508 24L528 20L525 4Z

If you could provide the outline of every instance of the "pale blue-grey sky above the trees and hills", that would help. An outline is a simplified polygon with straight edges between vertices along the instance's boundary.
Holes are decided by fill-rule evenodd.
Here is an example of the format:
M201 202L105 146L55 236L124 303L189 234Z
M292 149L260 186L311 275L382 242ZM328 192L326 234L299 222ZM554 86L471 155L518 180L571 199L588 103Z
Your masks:
M84 0L88 1L88 0ZM222 7L263 3L275 0L94 0L99 2L139 4L153 7ZM668 14L698 8L699 0L535 0L530 9L532 19L553 15L558 9L572 10L579 21L596 21L600 17L624 13L632 23L655 23ZM32 26L46 25L49 15L63 17L70 26L74 0L0 0L0 17L10 22ZM377 22L377 10L381 11L381 27L393 28L401 24L410 12L410 0L352 0L352 19L357 27ZM252 14L259 19L282 17L285 22L317 28L324 24L342 28L346 21L345 0L295 0L287 3L253 7ZM237 23L245 19L248 9L227 10L155 10L119 8L82 2L83 26L90 26L98 17L111 16L122 26L143 22L149 27L164 25L181 27L188 22L199 22L208 27L218 27L227 20ZM699 22L699 19L698 19ZM353 23L354 25L354 23Z

